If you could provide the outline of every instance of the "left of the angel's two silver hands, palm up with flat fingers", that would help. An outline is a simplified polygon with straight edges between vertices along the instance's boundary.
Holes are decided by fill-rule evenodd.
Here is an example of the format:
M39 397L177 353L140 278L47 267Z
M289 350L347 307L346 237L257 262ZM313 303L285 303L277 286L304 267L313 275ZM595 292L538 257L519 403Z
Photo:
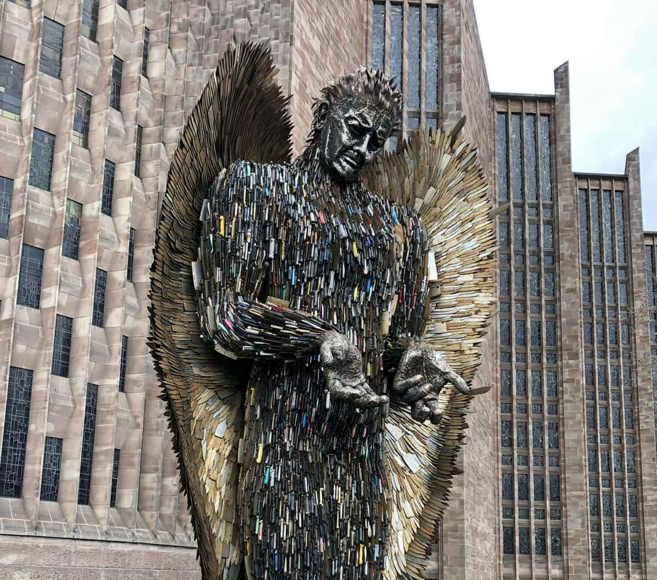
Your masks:
M367 383L361 353L344 335L326 333L319 354L331 396L364 409L388 405L388 397L377 395Z

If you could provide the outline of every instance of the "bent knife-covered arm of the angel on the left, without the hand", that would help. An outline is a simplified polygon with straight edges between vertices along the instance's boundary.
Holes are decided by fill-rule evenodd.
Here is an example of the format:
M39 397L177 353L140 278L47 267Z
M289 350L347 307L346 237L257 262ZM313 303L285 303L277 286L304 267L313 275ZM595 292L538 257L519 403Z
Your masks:
M281 301L260 299L281 251L277 220L286 218L281 197L270 191L276 184L260 181L266 167L238 162L212 185L194 266L198 313L205 333L228 356L311 356L332 326Z

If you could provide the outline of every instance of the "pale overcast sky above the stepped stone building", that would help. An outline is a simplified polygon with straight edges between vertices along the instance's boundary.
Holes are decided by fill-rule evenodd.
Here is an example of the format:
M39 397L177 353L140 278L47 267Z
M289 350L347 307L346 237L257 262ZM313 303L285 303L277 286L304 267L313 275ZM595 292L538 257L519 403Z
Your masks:
M624 173L640 147L657 230L657 0L474 0L491 91L554 94L570 61L573 170Z

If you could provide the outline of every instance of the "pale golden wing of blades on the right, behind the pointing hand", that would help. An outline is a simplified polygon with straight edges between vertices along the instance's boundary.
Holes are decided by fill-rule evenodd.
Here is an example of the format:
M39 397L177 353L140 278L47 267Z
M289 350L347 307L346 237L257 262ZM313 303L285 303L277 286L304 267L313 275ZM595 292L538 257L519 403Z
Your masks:
M462 126L451 135L413 136L401 152L380 157L363 181L371 191L419 210L438 272L438 280L430 283L424 341L445 352L451 367L471 383L495 310L495 225L476 150L458 135ZM471 399L443 389L439 426L421 425L408 409L391 408L386 422L390 580L424 578Z

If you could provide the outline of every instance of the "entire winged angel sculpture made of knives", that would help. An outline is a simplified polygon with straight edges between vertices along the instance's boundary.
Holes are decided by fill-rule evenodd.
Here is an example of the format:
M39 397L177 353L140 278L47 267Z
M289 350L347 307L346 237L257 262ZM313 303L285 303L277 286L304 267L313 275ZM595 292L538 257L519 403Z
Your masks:
M187 120L152 342L204 579L424 578L493 313L476 151L419 133L381 72L326 87L294 161L268 49ZM480 389L479 392L482 392Z

